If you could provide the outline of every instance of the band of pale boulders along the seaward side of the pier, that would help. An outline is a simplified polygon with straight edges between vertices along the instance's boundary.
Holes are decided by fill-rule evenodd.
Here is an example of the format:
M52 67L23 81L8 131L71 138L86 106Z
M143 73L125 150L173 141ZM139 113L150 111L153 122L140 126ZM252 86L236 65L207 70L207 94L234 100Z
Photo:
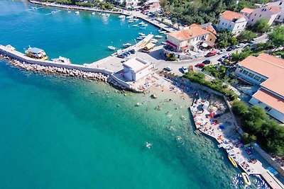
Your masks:
M1 55L1 54L0 54L0 58L8 60L8 62L14 67L26 69L27 71L41 72L45 74L59 74L62 76L72 76L72 77L79 77L83 79L103 81L104 83L111 84L112 86L116 88L126 90L124 86L121 86L120 84L118 84L116 81L114 81L114 79L111 79L111 77L107 74L81 71L78 69L67 69L64 67L60 68L60 67L43 66L39 64L28 64L26 62L21 62L18 59L12 59L11 57Z

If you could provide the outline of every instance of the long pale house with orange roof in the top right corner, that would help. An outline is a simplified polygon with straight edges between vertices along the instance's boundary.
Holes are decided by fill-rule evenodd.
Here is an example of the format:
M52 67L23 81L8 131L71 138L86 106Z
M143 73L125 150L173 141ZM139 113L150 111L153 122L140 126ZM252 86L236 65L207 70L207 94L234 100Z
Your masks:
M249 25L254 25L260 19L266 19L268 25L271 25L280 12L281 9L278 6L266 6L254 9L244 8L241 10L241 13L249 18Z

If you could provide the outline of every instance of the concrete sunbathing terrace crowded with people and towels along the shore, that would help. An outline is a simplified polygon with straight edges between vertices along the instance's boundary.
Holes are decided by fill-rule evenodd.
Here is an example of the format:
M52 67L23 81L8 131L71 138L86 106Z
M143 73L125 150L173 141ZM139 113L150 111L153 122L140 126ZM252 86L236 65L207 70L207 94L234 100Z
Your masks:
M202 134L214 138L219 148L223 148L239 167L248 175L260 175L273 189L284 189L283 183L270 173L259 159L261 156L254 148L257 144L242 144L240 139L241 129L237 127L234 115L226 111L227 103L214 99L198 98L190 106L195 127Z

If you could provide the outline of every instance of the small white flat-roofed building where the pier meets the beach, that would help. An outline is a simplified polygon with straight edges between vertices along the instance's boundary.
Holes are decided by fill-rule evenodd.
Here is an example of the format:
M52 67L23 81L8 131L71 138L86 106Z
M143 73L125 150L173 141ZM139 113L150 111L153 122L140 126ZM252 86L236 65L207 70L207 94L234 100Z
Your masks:
M153 64L139 58L129 59L124 62L123 66L126 81L140 81L151 74L153 69Z

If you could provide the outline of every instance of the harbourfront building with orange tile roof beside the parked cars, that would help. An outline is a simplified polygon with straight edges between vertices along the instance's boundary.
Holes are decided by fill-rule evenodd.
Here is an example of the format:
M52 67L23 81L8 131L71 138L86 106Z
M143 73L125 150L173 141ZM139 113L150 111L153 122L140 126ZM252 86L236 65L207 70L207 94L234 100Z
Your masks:
M209 33L200 27L190 27L168 33L166 43L174 52L197 51L198 45L207 40Z

